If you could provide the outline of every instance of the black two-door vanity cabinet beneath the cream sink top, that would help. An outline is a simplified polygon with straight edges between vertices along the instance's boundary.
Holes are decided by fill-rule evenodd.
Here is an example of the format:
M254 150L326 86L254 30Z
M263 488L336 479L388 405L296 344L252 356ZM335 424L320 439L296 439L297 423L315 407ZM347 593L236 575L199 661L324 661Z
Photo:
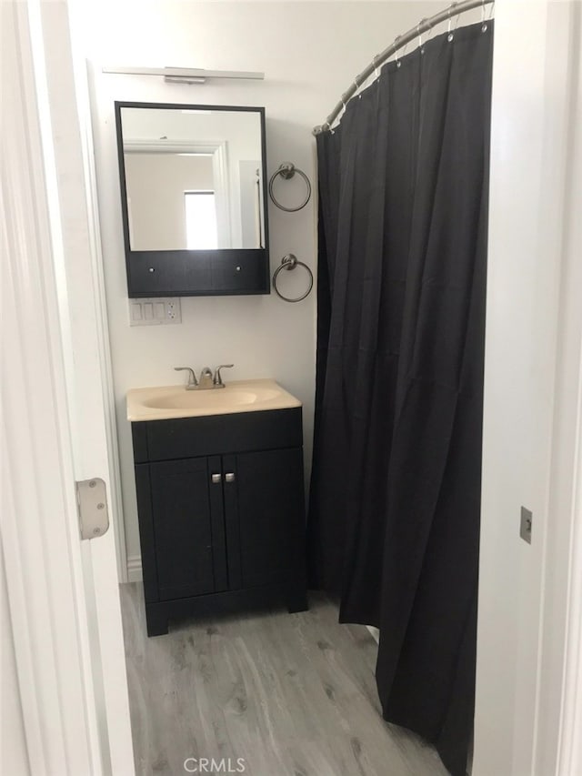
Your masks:
M149 636L247 606L306 609L301 408L132 423Z

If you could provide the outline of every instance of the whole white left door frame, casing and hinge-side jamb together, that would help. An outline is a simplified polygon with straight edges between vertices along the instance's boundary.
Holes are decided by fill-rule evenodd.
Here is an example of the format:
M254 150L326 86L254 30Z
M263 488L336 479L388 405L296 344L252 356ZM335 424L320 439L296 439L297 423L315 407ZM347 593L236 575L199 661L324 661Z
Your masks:
M2 59L1 527L22 773L133 776L115 531L82 541L76 514L75 480L111 492L115 469L66 5L3 2Z

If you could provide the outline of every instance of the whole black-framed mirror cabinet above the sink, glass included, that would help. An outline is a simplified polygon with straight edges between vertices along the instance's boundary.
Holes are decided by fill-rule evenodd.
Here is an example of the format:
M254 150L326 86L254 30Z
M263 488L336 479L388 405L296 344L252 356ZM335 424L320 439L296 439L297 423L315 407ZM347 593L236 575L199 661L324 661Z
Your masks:
M265 108L115 102L129 297L268 294Z

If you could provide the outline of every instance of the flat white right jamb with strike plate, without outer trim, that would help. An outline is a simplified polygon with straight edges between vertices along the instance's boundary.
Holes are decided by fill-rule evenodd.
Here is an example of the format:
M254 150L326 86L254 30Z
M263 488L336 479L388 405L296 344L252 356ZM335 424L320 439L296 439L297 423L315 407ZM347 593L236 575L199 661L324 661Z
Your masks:
M544 630L562 639L542 619L544 590L567 563L562 554L545 566L562 518L548 499L562 240L573 207L565 202L573 8L546 0L496 8L474 776L555 772L555 750L541 770L534 752L559 708L553 677L553 705L537 716L540 640ZM522 505L533 511L531 546L519 539Z

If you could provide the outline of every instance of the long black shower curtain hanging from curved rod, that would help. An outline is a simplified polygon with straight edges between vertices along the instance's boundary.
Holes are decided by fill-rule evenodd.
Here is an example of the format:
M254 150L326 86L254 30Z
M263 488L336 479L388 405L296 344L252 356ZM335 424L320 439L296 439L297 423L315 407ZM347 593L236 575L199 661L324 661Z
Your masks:
M386 721L454 776L474 711L493 25L391 62L317 136L314 587L376 625Z

